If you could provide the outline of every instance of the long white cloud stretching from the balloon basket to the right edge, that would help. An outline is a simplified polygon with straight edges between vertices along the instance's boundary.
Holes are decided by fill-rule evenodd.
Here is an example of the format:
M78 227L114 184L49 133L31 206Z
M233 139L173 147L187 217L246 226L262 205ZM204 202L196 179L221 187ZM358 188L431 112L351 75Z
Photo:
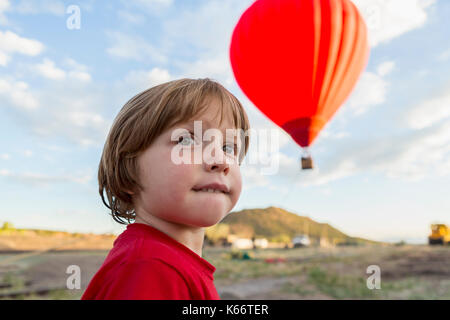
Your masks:
M400 115L415 130L366 140L336 139L332 148L320 156L316 152L315 158L313 152L315 169L302 172L298 185L325 185L360 173L379 173L413 182L450 174L449 92L446 90ZM299 172L297 166L298 160L287 157L280 161L277 176L295 182L292 176Z

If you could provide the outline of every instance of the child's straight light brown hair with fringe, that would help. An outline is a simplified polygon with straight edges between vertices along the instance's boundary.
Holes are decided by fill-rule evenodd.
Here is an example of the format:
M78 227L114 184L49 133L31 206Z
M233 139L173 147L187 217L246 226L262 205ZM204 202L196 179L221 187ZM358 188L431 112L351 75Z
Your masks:
M136 217L129 192L143 190L137 157L167 129L201 115L211 98L221 103L220 125L228 112L235 128L245 133L238 155L241 164L249 144L247 114L231 92L209 78L169 81L137 94L122 107L109 131L98 168L99 193L115 221L127 224Z

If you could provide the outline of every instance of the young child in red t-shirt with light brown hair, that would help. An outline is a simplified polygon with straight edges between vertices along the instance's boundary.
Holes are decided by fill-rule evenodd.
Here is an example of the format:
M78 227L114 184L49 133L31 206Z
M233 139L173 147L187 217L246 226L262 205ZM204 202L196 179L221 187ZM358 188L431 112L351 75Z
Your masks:
M199 124L221 135L206 138ZM170 81L124 105L98 180L103 203L127 227L81 299L220 299L216 268L202 258L204 228L239 199L248 130L241 103L210 79Z

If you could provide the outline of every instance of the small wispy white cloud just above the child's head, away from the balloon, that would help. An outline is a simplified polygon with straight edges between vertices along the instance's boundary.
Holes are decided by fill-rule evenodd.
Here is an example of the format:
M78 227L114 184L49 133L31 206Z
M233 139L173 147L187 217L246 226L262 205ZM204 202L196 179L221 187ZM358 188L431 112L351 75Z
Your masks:
M106 49L106 52L112 56L141 62L167 62L167 57L160 52L158 47L148 43L146 39L140 36L117 31L107 32L107 36L110 38L112 45Z

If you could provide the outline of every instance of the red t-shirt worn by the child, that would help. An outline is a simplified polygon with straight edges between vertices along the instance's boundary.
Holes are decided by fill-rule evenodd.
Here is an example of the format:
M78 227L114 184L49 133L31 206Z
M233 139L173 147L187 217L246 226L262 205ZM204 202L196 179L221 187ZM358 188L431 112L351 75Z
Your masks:
M216 268L162 231L132 223L89 283L82 300L220 300Z

